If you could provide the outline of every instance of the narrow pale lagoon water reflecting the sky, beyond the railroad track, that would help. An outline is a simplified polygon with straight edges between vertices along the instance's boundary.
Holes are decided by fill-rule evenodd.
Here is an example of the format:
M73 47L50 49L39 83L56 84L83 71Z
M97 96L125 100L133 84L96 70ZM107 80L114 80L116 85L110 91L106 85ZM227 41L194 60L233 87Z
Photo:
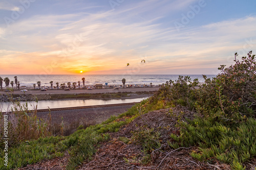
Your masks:
M119 104L119 103L132 103L140 102L145 98L137 99L111 99L111 100L100 100L100 99L87 99L87 100L56 100L56 101L38 101L37 109L50 109L53 108L64 108L64 107L77 107L77 106L94 106L94 105L109 105L109 104ZM20 102L20 104L25 104L26 102ZM10 102L2 102L0 104L0 111L5 112L11 110L13 105ZM28 107L30 110L34 109L36 106L35 102L28 102Z

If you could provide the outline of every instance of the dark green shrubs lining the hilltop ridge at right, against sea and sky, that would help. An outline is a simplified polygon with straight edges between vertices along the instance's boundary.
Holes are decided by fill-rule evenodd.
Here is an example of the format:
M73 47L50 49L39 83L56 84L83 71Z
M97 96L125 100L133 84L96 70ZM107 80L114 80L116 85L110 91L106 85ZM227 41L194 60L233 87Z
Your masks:
M220 74L215 78L203 75L204 84L191 81L188 76L166 82L151 99L162 100L165 104L188 106L203 115L210 113L225 122L237 122L246 117L255 117L256 110L256 64L255 55L237 59L234 65L221 65ZM199 86L199 89L195 89Z

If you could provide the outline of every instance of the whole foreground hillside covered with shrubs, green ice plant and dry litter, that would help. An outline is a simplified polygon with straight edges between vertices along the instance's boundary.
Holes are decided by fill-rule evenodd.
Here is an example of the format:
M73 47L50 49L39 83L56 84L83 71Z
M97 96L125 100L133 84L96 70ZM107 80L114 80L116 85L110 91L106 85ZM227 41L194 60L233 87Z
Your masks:
M251 53L241 61L235 54L233 65L221 65L213 79L204 76L204 84L182 76L170 80L129 111L70 136L19 139L9 148L7 167L1 150L0 169L62 158L67 161L60 169L256 169Z

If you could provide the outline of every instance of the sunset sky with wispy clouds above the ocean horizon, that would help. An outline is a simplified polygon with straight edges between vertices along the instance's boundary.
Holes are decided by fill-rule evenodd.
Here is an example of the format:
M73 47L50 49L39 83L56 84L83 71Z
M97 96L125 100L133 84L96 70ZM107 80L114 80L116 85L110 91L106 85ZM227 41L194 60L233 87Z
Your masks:
M234 53L256 54L255 7L255 0L2 0L0 75L216 75Z

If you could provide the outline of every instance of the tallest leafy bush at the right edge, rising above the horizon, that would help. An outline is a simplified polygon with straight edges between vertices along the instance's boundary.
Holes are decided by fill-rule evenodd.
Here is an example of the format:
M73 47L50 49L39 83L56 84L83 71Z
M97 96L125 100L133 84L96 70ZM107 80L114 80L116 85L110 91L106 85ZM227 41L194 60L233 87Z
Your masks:
M235 64L221 65L221 73L214 79L204 76L205 84L198 91L197 103L201 111L218 112L225 120L255 117L256 65L255 55L248 53L240 62L235 54Z

